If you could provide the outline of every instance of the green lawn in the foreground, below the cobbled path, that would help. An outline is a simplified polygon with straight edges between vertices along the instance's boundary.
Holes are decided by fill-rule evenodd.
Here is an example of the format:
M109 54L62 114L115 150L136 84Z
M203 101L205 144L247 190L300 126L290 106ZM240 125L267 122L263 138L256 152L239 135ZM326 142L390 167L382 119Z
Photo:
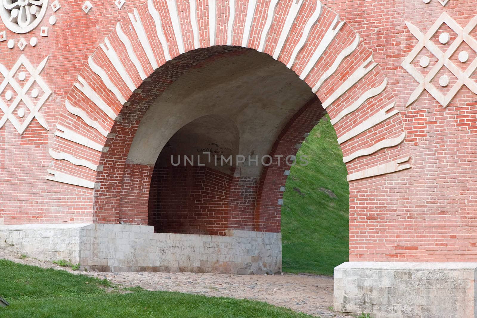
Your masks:
M266 303L121 288L107 280L0 259L0 307L8 318L306 318Z

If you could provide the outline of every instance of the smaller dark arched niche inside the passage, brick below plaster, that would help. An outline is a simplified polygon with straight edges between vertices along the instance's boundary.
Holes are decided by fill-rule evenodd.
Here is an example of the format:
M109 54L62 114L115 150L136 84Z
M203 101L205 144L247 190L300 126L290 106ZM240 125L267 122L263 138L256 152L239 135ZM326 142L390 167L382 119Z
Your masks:
M237 163L228 160L238 153L239 131L228 116L202 116L179 129L154 166L148 225L155 232L225 233L239 204L230 194Z

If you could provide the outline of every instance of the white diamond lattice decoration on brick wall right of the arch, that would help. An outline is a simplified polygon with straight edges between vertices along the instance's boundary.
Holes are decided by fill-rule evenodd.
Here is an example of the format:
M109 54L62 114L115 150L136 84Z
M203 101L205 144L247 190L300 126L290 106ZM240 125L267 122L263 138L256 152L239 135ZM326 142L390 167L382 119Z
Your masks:
M445 51L442 51L431 40L443 24L448 25L457 34L456 39L452 43L448 44L446 49L443 49ZM477 52L477 40L469 35L469 33L477 25L477 16L469 21L465 28L462 28L446 12L443 12L429 29L429 31L427 31L425 34L410 22L406 22L406 25L415 38L419 40L415 48L409 53L409 55L401 64L401 66L419 83L415 91L409 97L409 101L407 102L406 106L414 103L422 94L422 92L424 92L424 90L429 92L444 107L449 105L463 85L466 85L472 92L477 94L477 82L471 79L472 74L477 69L477 59L470 63L465 71L462 71L460 67L450 60L462 42L467 43L472 50ZM423 75L411 64L423 48L429 50L438 60L432 69L427 73L427 75ZM436 87L436 85L432 83L436 75L444 68L447 68L457 78L457 81L451 86L450 90L445 95L438 87Z

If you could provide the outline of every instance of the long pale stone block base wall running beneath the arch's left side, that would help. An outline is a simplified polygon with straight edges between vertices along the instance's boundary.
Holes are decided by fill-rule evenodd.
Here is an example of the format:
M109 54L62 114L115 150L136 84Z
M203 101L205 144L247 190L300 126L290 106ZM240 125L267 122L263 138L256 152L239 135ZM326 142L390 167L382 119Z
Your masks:
M227 236L154 233L153 226L0 226L0 248L98 271L263 274L281 272L281 234L228 230Z

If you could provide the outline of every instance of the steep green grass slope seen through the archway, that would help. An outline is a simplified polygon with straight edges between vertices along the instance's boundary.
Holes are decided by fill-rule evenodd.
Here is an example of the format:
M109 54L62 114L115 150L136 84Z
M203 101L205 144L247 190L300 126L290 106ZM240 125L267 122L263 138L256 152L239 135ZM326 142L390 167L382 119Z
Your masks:
M348 260L349 185L336 139L326 115L297 154L308 155L310 164L290 169L281 209L285 272L333 275Z

